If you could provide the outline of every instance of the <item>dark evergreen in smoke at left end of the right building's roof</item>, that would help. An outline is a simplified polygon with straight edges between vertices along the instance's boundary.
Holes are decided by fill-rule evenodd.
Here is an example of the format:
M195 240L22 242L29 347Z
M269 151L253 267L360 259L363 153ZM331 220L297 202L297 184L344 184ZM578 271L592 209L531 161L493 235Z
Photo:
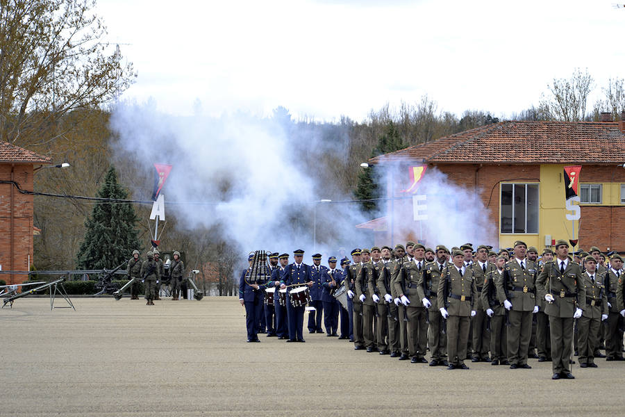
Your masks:
M384 129L383 135L378 140L378 145L371 152L371 158L378 155L387 154L389 152L399 151L405 148L403 140L399 136L399 130L394 122L388 122ZM370 200L380 198L382 195L381 187L376 174L376 166L370 165L368 168L361 170L358 174L358 185L353 195L359 200ZM379 200L360 202L360 207L365 213L374 214L378 211Z

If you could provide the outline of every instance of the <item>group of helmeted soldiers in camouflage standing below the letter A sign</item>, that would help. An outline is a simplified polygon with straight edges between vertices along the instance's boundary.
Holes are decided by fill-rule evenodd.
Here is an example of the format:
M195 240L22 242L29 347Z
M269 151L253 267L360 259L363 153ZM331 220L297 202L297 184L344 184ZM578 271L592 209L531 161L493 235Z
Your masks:
M131 286L131 300L139 300L140 282L144 284L146 305L153 306L155 300L160 300L163 284L169 285L172 300L178 300L178 294L185 277L185 264L180 259L180 252L174 252L174 259L165 264L160 259L160 252L154 248L149 251L144 261L138 250L133 251L133 257L128 261L126 274L128 279L135 279Z

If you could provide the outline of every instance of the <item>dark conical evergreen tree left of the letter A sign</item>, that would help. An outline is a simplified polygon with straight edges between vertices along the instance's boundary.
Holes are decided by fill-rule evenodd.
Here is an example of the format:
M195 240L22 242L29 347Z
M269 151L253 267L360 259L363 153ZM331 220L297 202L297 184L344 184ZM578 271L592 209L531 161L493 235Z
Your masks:
M117 183L115 168L111 166L97 194L108 199L126 199L128 193ZM138 218L130 203L98 202L85 222L87 231L76 255L79 269L115 268L128 260L133 250L141 250Z

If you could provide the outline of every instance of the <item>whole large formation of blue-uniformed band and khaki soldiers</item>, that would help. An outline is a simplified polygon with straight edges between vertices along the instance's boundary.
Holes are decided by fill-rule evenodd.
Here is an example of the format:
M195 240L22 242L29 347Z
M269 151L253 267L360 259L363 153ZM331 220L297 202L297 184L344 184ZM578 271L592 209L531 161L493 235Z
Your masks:
M270 278L249 282L242 271L247 341L266 333L305 342L308 310L309 333L348 339L354 350L449 370L469 369L469 360L529 369L533 358L551 361L552 379L573 379L574 353L582 368L624 360L625 284L619 254L569 250L557 240L539 259L520 240L499 253L408 241L354 249L340 267L334 256L325 266L321 254L307 265L303 250L292 263L272 253Z

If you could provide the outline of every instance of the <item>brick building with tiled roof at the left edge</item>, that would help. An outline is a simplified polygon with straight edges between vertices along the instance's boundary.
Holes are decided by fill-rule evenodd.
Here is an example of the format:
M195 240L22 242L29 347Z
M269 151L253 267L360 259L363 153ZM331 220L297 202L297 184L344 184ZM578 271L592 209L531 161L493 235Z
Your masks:
M27 271L33 262L33 175L46 156L0 141L0 265L2 270ZM7 284L19 284L27 275L2 274Z

